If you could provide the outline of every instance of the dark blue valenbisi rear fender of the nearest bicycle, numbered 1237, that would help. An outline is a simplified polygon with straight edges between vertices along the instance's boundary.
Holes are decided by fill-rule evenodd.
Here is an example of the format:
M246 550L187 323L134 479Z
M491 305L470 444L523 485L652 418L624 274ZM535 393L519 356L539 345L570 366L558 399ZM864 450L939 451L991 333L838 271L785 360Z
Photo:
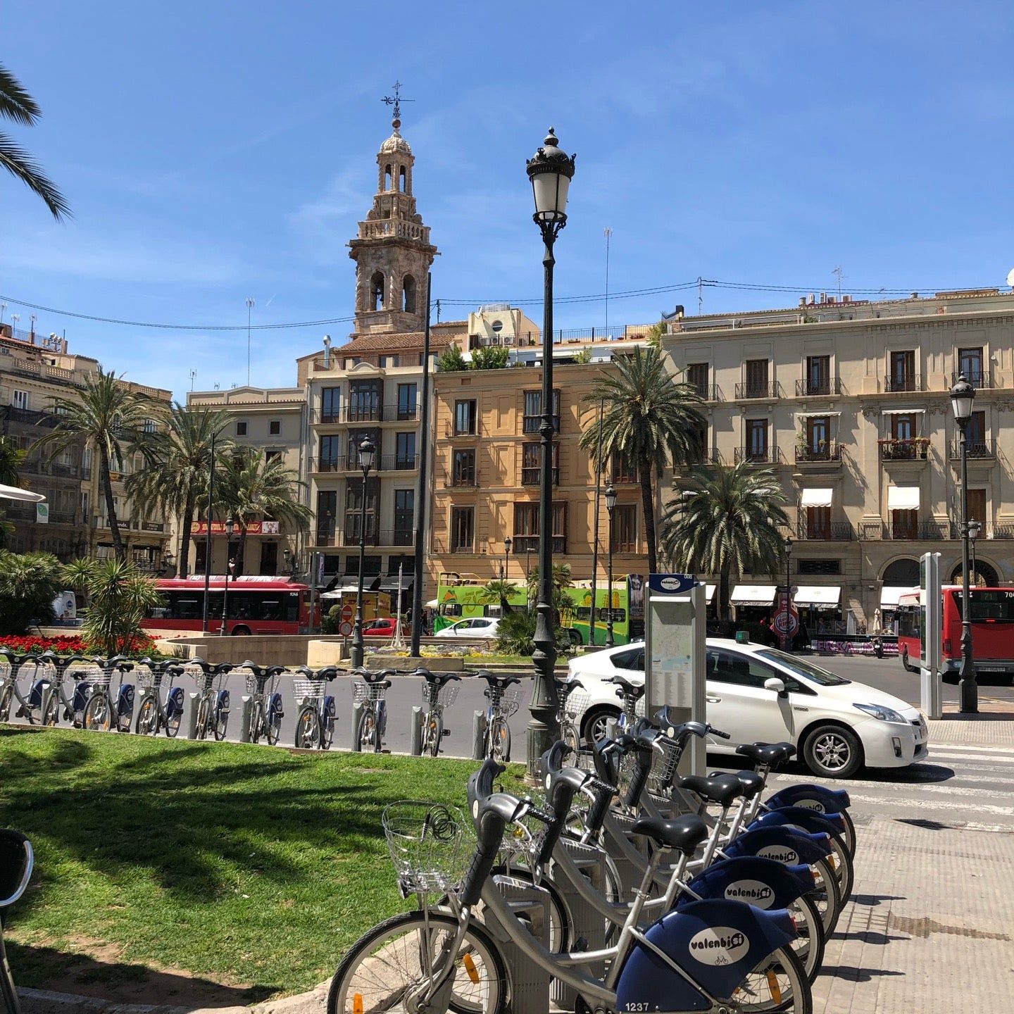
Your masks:
M670 912L650 926L647 940L699 986L721 1000L796 932L784 909L764 912L742 901L708 898ZM711 1003L677 971L638 942L617 983L617 1011L699 1011Z

